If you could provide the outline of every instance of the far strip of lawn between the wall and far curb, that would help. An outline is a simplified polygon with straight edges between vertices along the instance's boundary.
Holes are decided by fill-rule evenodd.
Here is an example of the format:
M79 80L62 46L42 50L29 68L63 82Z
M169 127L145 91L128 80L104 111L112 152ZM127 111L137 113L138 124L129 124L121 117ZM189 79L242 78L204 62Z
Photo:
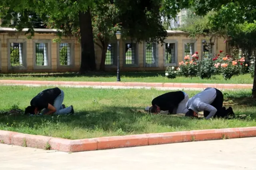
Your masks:
M77 73L23 73L23 74L0 74L0 79L9 80L41 80L41 81L116 81L116 72L95 72L86 74ZM162 72L122 72L122 82L158 82L158 83L231 83L252 84L253 78L249 74L238 75L230 80L225 80L222 75L213 76L211 79L200 79L199 77L186 78L176 77L168 79Z

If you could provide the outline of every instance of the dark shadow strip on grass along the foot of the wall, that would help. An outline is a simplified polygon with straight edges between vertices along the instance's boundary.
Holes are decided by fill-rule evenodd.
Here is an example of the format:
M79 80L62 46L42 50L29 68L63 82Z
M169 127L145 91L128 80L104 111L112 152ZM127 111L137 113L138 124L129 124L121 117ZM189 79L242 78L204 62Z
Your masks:
M157 77L159 75L164 75L164 71L121 71L122 76L125 77ZM115 72L88 72L88 73L35 73L35 74L0 74L0 77L55 77L55 78L60 78L60 77L65 77L65 78L72 78L72 77L113 77L116 76L116 71Z

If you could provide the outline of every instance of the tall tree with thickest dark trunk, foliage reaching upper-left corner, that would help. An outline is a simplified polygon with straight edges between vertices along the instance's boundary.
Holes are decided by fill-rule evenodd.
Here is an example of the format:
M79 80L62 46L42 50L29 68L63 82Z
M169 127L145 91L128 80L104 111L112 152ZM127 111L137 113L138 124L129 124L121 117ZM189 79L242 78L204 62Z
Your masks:
M0 1L0 18L14 13L24 14L25 11L34 12L43 19L47 14L48 18L66 20L78 16L81 36L81 67L80 71L92 71L96 69L94 42L92 34L92 22L90 8L94 6L94 0L1 0ZM10 19L6 18L6 19ZM12 26L21 31L27 27L23 20L17 20L17 24ZM34 29L30 28L29 32L33 36Z

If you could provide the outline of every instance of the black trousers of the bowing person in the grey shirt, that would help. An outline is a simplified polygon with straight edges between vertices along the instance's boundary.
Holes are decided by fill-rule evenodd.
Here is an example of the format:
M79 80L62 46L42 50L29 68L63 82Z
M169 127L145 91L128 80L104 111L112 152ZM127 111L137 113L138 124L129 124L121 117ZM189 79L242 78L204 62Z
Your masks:
M213 107L215 107L217 109L216 114L214 115L214 117L223 117L224 116L224 110L222 108L223 106L223 94L221 91L219 91L218 89L216 89L216 98L214 99L214 101L210 104ZM226 110L226 109L225 109ZM204 111L204 117L207 117L209 115L210 112L208 111Z

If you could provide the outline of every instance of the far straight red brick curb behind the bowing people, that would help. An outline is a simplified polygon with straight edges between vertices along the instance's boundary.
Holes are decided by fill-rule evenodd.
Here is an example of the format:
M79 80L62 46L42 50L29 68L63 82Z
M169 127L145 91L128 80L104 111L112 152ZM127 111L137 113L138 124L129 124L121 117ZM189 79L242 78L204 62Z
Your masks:
M0 80L0 84L31 84L31 85L86 85L86 86L133 86L133 87L176 87L217 89L252 89L252 84L204 84L204 83L139 83L139 82L90 82L90 81L27 81Z

